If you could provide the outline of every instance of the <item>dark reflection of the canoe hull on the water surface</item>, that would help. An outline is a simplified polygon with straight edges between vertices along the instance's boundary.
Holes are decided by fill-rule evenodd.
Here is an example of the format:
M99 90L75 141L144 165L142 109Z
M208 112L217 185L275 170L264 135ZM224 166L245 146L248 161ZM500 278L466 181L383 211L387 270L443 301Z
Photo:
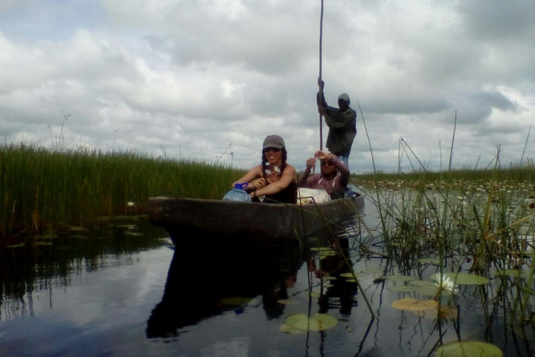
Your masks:
M219 245L206 250L201 245L197 241L195 247L176 247L162 301L147 321L148 338L176 336L182 328L229 310L239 314L258 296L267 319L284 313L277 301L288 298L287 289L304 262L299 247L252 250Z

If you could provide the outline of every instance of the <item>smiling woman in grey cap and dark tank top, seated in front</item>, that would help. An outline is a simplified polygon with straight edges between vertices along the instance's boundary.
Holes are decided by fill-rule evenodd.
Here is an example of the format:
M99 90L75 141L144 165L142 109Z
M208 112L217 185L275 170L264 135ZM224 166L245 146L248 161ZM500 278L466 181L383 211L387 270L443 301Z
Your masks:
M263 203L297 203L297 174L286 163L286 145L279 135L265 137L262 146L262 165L257 165L233 183L249 183L245 190L253 202L265 196Z

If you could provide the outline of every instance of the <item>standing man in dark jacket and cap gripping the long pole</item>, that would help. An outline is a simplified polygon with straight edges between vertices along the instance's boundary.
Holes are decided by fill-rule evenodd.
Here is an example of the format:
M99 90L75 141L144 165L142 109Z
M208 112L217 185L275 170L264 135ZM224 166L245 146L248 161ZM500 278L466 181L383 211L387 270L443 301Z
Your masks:
M323 87L325 82L318 78L318 86L320 86L320 92L318 92L318 112L325 118L325 123L329 127L329 133L327 134L327 149L331 153L334 153L338 160L343 162L346 167L349 167L349 154L351 153L351 145L353 139L357 135L357 112L351 109L349 96L346 93L342 93L338 96L338 107L329 107L323 96ZM320 98L320 93L322 96Z

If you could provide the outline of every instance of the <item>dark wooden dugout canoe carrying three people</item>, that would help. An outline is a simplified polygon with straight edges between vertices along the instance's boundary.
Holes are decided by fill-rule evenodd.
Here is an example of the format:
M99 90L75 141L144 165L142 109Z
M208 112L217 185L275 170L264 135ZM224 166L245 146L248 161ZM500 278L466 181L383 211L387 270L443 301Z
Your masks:
M364 197L359 194L305 205L152 197L148 216L153 225L166 229L175 245L202 237L203 244L231 238L277 246L316 234L326 221L348 220L362 208Z

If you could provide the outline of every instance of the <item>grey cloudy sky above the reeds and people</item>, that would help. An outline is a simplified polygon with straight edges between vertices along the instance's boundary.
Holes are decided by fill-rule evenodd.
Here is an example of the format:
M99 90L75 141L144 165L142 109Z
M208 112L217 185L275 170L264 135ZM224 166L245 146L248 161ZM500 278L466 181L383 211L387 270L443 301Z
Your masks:
M320 3L0 0L0 137L248 168L279 134L303 169L320 146ZM533 158L534 18L532 0L325 0L325 98L358 113L351 171L372 168L364 123L386 172L404 144L404 172L447 168L455 118L453 167L498 148L517 165L530 128Z

